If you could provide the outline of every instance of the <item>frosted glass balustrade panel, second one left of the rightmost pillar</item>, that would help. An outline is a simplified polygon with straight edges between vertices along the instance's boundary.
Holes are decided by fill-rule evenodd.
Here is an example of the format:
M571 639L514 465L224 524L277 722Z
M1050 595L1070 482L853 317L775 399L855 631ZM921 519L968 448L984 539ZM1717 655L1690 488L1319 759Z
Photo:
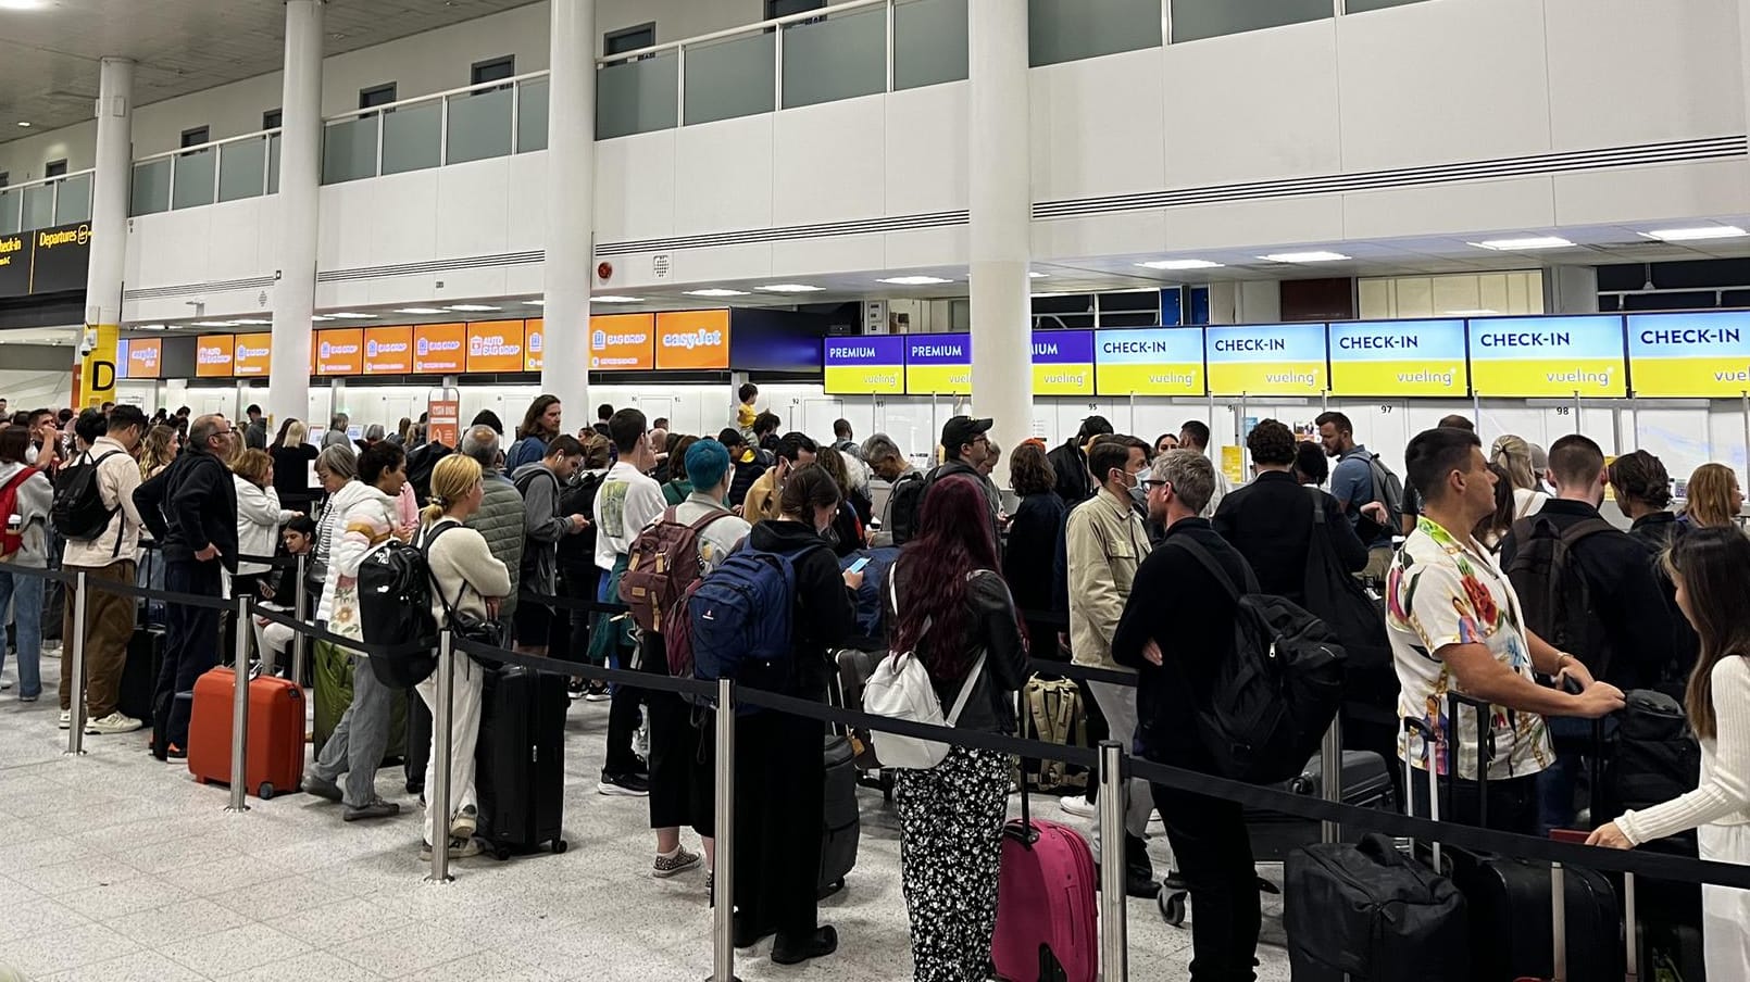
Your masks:
M887 91L887 11L868 7L784 28L784 107Z

